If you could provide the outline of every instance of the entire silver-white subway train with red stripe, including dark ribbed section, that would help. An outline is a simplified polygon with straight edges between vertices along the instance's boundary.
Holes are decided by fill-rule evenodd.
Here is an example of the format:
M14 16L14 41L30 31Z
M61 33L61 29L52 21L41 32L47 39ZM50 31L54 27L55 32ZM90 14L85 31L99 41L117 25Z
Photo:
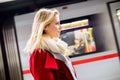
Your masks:
M78 80L120 80L120 1L88 0L52 8L60 12L60 38L68 43L66 55ZM5 20L0 41L0 80L33 80L30 55L23 49L36 11Z

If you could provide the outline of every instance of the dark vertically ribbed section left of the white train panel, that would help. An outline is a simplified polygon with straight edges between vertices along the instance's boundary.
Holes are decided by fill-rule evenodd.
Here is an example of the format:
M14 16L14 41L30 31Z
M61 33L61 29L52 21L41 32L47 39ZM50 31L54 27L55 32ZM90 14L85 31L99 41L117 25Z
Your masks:
M17 49L16 35L14 30L14 19L13 16L6 16L3 21L1 29L2 34L2 55L4 56L2 63L2 57L0 56L0 65L4 64L5 73L1 69L1 73L4 79L0 80L22 80L21 75L21 63L19 60L19 54ZM1 55L1 45L0 45ZM0 66L2 68L2 66ZM5 76L3 75L5 74Z

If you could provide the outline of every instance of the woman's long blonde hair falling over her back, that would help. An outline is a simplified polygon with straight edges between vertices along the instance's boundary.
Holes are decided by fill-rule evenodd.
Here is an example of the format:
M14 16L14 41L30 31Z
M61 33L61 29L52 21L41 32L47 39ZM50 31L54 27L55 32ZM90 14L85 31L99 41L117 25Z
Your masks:
M49 25L58 15L59 12L56 9L42 8L35 14L32 33L24 48L25 52L32 52L34 49L44 49L44 28Z

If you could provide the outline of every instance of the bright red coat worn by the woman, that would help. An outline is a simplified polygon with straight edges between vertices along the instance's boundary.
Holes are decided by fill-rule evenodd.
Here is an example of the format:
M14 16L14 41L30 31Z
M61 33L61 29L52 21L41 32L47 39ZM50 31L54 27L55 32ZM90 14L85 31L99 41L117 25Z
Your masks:
M64 62L55 59L48 51L33 51L30 71L34 80L74 80Z

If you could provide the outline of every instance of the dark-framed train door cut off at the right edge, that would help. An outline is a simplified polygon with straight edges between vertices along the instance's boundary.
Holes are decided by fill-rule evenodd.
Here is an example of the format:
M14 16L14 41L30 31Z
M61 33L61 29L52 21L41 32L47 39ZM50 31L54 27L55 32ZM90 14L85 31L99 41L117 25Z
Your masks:
M108 9L115 32L118 52L120 53L120 1L108 2Z

